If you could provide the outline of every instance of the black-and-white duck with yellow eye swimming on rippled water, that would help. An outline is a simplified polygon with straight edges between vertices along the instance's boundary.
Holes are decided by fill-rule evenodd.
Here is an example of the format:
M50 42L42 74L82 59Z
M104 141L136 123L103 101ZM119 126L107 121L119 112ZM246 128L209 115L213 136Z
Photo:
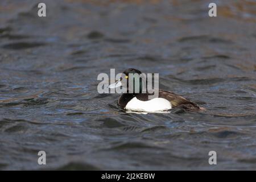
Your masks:
M109 88L123 86L125 89L127 89L127 93L123 93L118 99L118 105L123 109L146 112L170 110L175 107L193 111L205 110L203 107L198 106L194 102L189 101L184 97L160 89L158 96L150 100L148 96L152 95L152 93L149 93L148 90L146 90L146 92L142 92L142 79L133 78L133 84L138 84L135 83L135 81L139 81L139 92L135 93L134 89L129 89L129 74L141 75L141 71L138 69L129 68L126 69L123 74L125 75L126 82L121 77L117 82L109 85Z

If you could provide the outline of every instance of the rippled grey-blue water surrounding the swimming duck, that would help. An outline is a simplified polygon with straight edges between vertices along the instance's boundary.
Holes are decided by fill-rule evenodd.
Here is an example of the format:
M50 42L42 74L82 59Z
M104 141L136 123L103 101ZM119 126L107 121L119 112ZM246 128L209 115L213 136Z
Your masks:
M255 1L45 2L0 1L0 169L255 169ZM207 111L127 113L110 68Z

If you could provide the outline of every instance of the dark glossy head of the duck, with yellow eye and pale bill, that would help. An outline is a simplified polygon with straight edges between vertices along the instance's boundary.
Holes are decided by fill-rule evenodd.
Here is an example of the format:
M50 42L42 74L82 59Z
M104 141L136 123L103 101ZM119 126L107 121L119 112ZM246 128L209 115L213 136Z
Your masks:
M117 88L119 86L126 88L127 93L146 92L146 75L138 69L126 69L121 78L114 84L109 85L109 88Z

